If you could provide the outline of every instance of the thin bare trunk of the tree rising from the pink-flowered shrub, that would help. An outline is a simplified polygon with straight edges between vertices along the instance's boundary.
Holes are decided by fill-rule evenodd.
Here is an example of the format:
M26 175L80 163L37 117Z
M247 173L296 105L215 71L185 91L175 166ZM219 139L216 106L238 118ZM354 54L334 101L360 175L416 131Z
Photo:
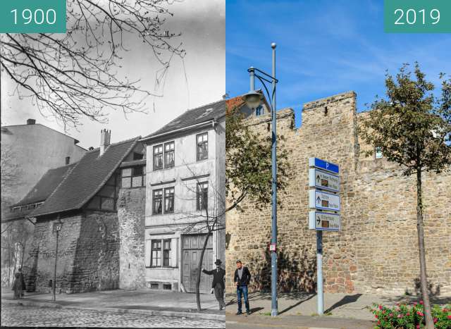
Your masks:
M426 252L424 248L423 199L421 194L421 168L416 170L416 230L418 232L418 247L420 256L420 283L424 302L424 318L426 328L433 329L434 323L429 302L428 278L426 275Z

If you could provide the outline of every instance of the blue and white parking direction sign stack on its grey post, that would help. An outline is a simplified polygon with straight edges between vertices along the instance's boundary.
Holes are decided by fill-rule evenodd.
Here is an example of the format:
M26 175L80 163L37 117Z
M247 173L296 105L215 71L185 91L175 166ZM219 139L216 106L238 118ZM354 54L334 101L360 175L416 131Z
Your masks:
M340 168L309 158L309 229L316 230L316 288L318 314L324 314L323 231L340 231Z

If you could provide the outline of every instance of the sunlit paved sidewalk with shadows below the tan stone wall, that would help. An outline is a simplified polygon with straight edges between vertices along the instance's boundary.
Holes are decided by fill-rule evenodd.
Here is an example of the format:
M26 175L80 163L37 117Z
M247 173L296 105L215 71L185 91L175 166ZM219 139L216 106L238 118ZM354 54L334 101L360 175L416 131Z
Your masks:
M394 306L400 302L418 302L418 297L412 296L378 296L375 294L324 294L324 317L349 318L363 321L373 321L374 316L369 311L373 303ZM226 317L235 316L237 311L236 295L226 296ZM451 297L435 297L434 304L450 304ZM271 318L271 293L252 292L249 294L249 304L252 314ZM244 309L243 302L243 311ZM281 293L278 295L278 311L280 316L317 316L316 294L303 292ZM252 318L248 316L248 318Z

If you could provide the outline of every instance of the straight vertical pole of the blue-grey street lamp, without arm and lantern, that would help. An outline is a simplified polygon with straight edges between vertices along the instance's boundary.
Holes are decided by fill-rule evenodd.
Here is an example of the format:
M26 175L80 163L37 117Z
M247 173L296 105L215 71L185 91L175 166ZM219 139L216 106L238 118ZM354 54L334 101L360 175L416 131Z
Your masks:
M276 135L276 44L272 43L271 48L273 49L273 94L272 104L271 104L271 118L273 120L273 134L272 134L272 149L271 149L271 162L272 162L272 190L273 190L273 200L272 200L272 237L271 243L277 246L277 159L276 159L276 146L277 146L277 135ZM277 248L277 247L276 247ZM277 250L273 249L271 251L271 316L278 315L277 307Z

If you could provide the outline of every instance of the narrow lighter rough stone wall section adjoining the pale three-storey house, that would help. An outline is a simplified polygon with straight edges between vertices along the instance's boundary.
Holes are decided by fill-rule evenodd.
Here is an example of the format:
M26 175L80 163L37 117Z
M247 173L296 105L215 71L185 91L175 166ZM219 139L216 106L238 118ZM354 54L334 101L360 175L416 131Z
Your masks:
M146 286L144 264L145 187L122 189L118 198L119 287L121 289Z

